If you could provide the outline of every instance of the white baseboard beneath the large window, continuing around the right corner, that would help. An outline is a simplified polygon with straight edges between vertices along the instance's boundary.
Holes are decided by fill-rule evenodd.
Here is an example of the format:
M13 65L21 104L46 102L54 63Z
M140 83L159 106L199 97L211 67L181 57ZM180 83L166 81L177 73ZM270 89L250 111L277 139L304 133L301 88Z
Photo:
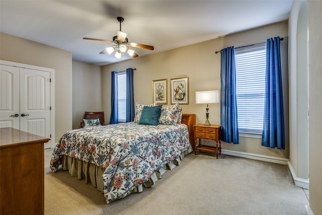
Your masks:
M289 170L291 171L294 184L298 187L302 187L305 189L309 188L309 180L304 178L298 178L294 172L294 169L291 165L291 162L286 158L278 158L273 156L266 156L266 155L258 155L258 154L252 154L252 153L246 153L246 152L238 152L238 151L232 151L232 150L221 150L221 153L224 155L231 155L241 158L248 158L248 159L254 159L259 161L266 161L276 164L283 164L288 165Z

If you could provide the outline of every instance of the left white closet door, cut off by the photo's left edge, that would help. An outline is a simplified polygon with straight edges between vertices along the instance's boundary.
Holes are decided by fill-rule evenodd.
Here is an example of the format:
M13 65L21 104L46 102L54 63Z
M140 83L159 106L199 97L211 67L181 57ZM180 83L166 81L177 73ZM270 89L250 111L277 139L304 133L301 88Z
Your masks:
M20 129L19 67L0 65L0 128Z

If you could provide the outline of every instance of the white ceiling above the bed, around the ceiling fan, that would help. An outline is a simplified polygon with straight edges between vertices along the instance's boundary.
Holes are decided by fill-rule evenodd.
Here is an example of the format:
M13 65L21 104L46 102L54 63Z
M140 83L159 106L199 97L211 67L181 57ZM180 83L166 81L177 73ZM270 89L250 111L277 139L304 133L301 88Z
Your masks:
M112 40L124 17L129 42L154 46L132 48L139 56L162 52L219 36L287 20L293 0L0 0L1 32L72 53L75 60L97 65L120 61L99 54ZM124 55L121 60L129 59Z

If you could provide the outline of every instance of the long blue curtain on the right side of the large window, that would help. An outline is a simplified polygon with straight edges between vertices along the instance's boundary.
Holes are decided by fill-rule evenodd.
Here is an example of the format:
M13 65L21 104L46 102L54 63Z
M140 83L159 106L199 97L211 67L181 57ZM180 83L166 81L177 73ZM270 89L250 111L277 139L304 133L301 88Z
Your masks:
M285 149L280 38L267 39L262 146Z

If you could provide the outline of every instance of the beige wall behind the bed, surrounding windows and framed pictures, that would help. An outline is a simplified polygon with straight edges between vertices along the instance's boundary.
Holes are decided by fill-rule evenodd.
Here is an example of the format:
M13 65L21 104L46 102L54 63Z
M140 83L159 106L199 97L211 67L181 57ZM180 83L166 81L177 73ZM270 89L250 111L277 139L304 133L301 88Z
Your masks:
M181 105L184 113L196 113L196 122L204 123L205 105L195 104L195 92L204 90L220 91L220 54L215 51L227 46L249 45L258 42L265 42L266 39L274 36L285 37L281 45L286 45L284 51L284 80L287 82L287 36L288 23L281 22L247 32L240 32L233 35L221 37L202 43L173 49L170 51L156 53L149 56L141 56L136 59L122 61L103 67L104 83L111 83L111 71L125 70L128 67L136 68L134 72L134 102L142 104L152 103L152 81L168 79L168 104L170 100L170 80L174 78L189 77L189 105ZM286 53L285 53L286 52ZM286 116L286 149L277 150L261 146L261 139L240 137L239 145L222 144L223 149L274 156L280 158L289 157L288 145L288 89L285 87L284 99ZM284 91L283 90L283 91ZM111 89L103 86L103 108L110 112ZM209 120L212 124L220 124L220 105L209 104Z

